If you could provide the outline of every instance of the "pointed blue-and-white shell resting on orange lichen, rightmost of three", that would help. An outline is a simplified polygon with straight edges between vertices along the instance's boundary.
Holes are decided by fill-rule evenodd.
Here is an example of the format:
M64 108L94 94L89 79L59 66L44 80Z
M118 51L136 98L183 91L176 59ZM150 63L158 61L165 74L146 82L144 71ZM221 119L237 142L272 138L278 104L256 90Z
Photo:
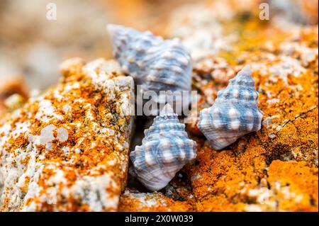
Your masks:
M246 66L230 79L226 89L218 91L213 106L201 111L198 128L214 149L223 149L242 135L260 130L263 113L258 108L258 96Z

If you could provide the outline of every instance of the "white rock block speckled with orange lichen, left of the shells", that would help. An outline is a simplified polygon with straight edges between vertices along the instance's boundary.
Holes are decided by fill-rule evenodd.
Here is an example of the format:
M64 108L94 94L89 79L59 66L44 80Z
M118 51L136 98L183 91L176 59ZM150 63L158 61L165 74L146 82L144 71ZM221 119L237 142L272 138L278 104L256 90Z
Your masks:
M102 59L61 71L57 86L0 120L1 210L118 209L133 79Z

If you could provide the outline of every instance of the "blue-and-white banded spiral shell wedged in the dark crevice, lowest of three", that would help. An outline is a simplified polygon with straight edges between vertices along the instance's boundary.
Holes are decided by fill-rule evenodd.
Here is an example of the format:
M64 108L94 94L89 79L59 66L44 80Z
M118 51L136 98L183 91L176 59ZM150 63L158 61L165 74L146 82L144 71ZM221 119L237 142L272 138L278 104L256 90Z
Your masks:
M187 162L196 157L196 142L190 140L185 125L167 104L154 119L141 146L130 153L133 174L151 191L167 186Z

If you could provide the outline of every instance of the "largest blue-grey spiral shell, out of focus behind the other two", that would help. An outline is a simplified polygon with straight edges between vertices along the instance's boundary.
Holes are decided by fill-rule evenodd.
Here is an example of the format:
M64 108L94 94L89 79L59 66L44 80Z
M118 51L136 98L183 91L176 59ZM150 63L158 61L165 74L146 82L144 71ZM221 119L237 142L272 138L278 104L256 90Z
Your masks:
M150 31L123 26L107 28L114 56L123 72L130 74L135 84L142 85L143 92L172 91L182 95L181 91L191 91L191 57L179 40L163 40ZM158 99L157 103L167 101Z

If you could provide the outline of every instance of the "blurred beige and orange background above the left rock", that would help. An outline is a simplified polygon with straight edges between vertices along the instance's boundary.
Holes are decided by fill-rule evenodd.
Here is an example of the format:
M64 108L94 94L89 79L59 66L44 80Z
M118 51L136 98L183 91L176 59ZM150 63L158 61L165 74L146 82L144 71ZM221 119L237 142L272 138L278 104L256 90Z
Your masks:
M111 57L106 24L156 30L180 4L200 1L1 0L0 79L24 76L30 89L45 89L69 57ZM46 18L50 3L57 6L56 21Z

